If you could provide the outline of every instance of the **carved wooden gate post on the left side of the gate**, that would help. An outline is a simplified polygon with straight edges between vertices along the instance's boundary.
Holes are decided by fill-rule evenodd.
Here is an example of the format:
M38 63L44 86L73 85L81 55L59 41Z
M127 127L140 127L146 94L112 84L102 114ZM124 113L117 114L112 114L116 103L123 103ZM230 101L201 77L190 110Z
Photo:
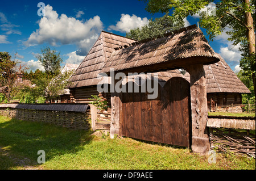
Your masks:
M119 80L114 80L114 85ZM118 93L114 90L111 93L111 123L110 123L110 138L114 135L122 137L122 92Z

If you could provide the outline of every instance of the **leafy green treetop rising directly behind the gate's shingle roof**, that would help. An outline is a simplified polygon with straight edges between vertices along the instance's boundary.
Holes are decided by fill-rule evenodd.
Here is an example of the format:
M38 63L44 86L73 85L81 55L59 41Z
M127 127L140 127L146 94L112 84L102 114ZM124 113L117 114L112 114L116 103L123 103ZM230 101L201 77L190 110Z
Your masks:
M134 28L130 32L126 33L126 37L130 39L141 41L148 38L156 38L159 35L168 33L184 26L184 22L174 23L168 14L161 18L156 18L154 21L149 20L149 23L141 28Z

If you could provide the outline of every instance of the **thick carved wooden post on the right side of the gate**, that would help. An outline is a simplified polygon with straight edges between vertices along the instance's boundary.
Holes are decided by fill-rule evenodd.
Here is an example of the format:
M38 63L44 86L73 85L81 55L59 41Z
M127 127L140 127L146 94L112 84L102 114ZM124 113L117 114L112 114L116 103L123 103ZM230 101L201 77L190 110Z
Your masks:
M205 155L210 148L207 129L207 89L203 64L188 68L191 85L192 145L194 153Z

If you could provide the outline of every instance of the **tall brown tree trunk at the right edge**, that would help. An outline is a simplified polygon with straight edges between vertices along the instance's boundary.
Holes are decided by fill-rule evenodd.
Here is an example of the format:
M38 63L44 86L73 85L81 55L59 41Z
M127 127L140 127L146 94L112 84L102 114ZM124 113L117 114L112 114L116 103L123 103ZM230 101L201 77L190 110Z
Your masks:
M244 0L244 2L247 4L247 6L250 6L250 0ZM254 28L253 28L253 17L251 16L250 12L245 12L245 24L247 26L246 30L246 37L249 42L249 56L253 56L255 54L255 34L254 34ZM251 69L253 69L252 66L253 62L250 62ZM254 87L254 95L255 95L255 73L252 74L253 77L253 87Z

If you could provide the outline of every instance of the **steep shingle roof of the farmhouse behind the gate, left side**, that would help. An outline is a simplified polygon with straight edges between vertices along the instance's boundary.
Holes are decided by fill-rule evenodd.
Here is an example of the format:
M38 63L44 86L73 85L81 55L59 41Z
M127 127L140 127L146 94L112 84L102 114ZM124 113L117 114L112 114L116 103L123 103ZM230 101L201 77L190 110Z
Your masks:
M120 46L130 46L135 40L123 36L102 31L100 37L90 49L85 59L79 65L79 68L72 75L69 82L70 88L97 85L100 79L97 79L98 73L104 67L106 60L113 52L113 48Z

